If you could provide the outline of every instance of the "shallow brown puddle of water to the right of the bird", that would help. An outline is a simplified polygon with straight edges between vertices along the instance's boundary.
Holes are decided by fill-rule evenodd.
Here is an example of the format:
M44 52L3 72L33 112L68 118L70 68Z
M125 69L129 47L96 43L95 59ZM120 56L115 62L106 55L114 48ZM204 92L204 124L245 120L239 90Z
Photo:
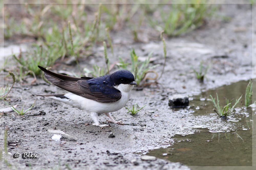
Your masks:
M253 80L254 83L255 81ZM216 98L216 92L222 106L226 104L224 97L235 100L243 94L241 100L244 101L247 84L248 81L240 81L193 96L189 104L190 109L194 111L192 114L212 114L213 104L209 101L209 96ZM253 91L256 91L255 86ZM151 150L147 155L171 162L181 162L187 166L252 166L252 112L254 114L255 111L252 108L242 108L241 102L236 107L239 108L230 114L228 120L234 125L233 130L195 127L199 132L175 135L175 142L170 147Z

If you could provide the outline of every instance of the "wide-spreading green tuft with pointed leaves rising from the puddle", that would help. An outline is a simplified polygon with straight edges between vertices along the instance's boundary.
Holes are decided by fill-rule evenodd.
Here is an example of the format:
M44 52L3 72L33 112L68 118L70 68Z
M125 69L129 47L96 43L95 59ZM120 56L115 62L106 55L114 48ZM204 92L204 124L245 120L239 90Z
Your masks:
M216 96L217 96L217 103L215 101L215 98L213 98L211 95L211 101L214 103L214 111L218 114L219 117L222 117L222 118L225 118L227 119L227 116L229 115L229 113L234 109L234 107L237 105L237 103L239 102L239 100L242 98L242 95L239 99L236 99L236 102L235 104L231 107L231 103L229 102L228 99L226 99L226 106L222 107L220 106L219 104L219 96L218 94L216 93ZM231 108L230 108L231 107Z

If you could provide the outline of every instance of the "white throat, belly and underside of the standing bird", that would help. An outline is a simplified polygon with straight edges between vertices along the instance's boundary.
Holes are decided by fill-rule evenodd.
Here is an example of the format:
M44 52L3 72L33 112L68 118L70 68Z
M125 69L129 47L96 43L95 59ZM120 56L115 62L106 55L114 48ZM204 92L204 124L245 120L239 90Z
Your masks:
M95 125L99 126L97 114L115 112L122 109L126 105L126 103L129 101L131 96L131 90L133 89L134 85L120 84L114 87L119 91L121 91L122 97L118 101L111 102L111 103L97 102L91 99L78 96L73 93L68 93L65 95L69 99L66 99L66 98L61 99L61 98L52 97L52 96L48 98L61 101L63 103L74 106L80 110L85 110L87 113L91 113L91 116L93 118L93 121L95 122Z

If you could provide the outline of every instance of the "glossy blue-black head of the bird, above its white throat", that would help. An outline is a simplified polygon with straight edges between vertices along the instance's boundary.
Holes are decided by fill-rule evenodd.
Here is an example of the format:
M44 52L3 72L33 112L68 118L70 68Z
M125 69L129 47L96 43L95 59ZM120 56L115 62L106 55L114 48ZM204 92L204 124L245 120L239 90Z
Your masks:
M119 84L137 85L133 74L128 70L116 71L113 74L111 74L110 79L115 85L119 85Z

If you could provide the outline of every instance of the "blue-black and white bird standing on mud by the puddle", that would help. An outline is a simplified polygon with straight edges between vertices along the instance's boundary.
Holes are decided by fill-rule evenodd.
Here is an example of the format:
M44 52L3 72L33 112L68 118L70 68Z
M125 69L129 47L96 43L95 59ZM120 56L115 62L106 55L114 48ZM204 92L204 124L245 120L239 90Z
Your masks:
M122 109L129 101L131 90L137 85L134 75L128 70L119 70L100 77L72 77L49 71L38 66L45 78L52 84L68 91L66 94L37 95L69 104L90 114L92 125L105 127L100 124L98 114L109 117L108 122L123 125L122 121L115 121L112 112Z

